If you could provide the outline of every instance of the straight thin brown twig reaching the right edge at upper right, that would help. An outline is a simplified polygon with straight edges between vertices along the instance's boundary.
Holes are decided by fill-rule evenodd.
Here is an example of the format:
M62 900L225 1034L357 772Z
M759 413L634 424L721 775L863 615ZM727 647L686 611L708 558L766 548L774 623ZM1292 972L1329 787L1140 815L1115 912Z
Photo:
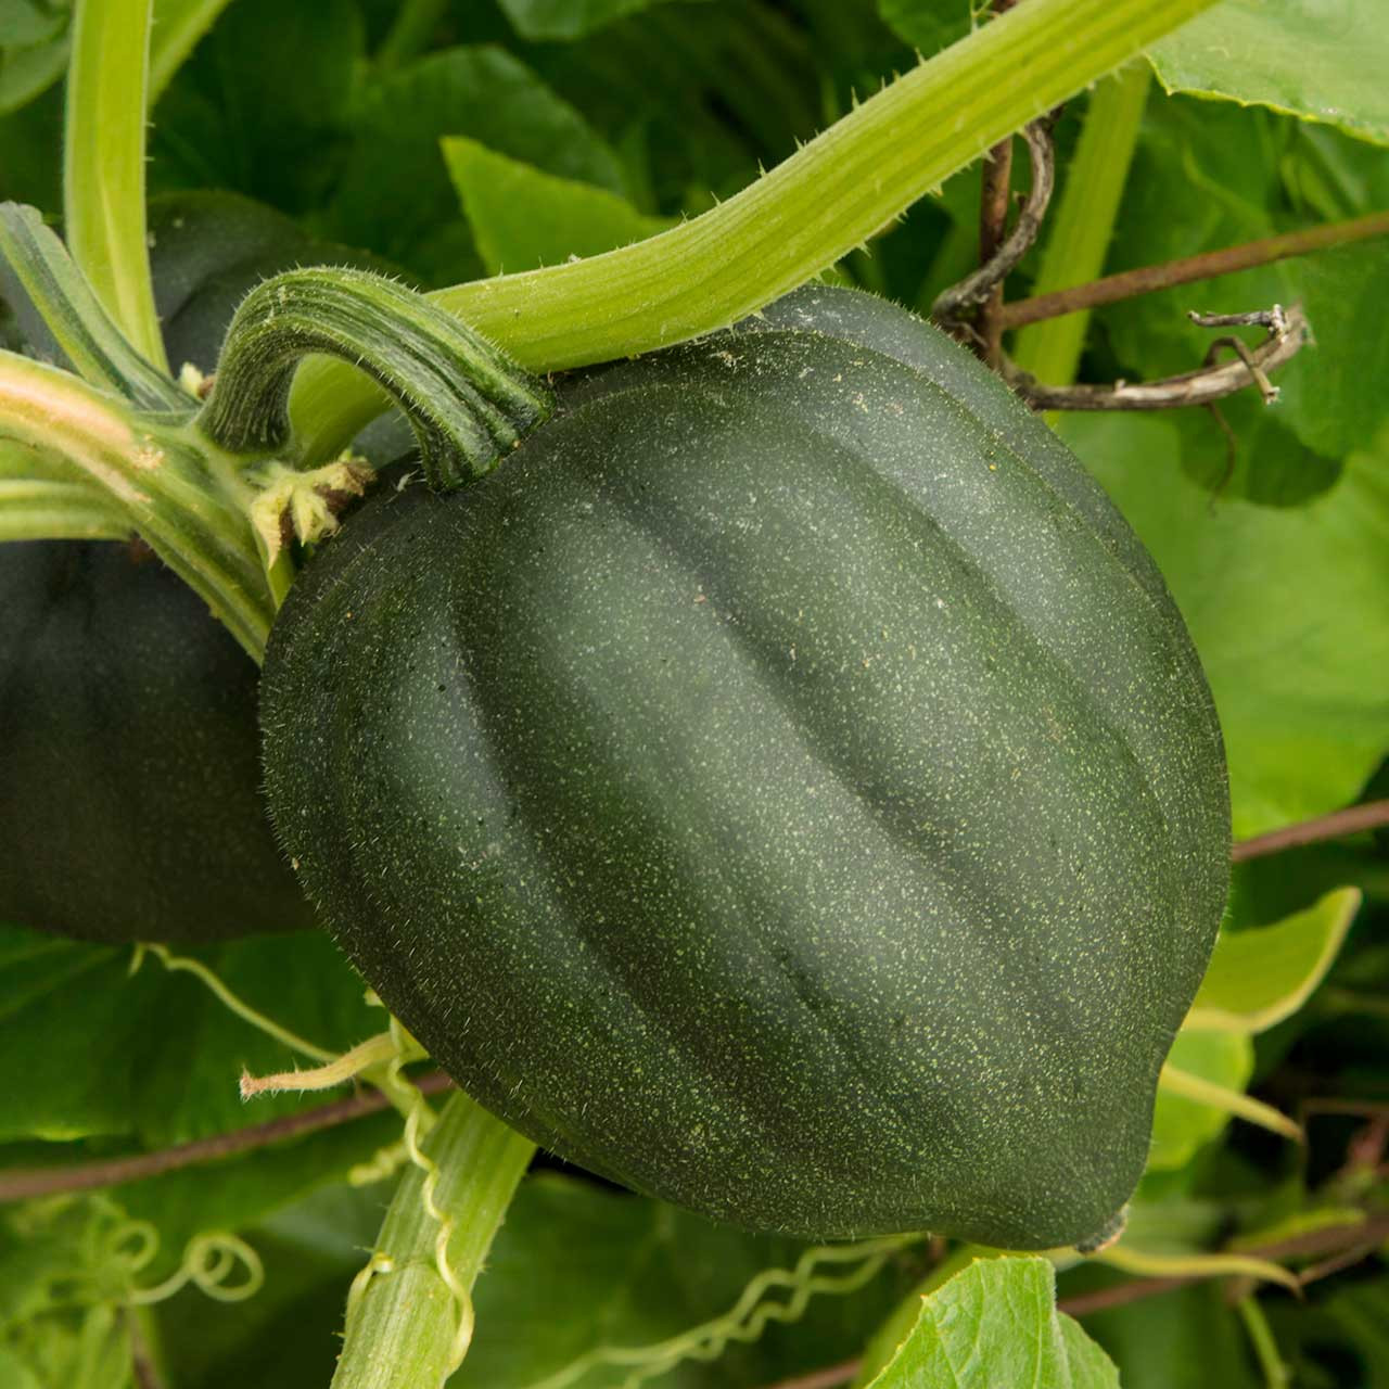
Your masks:
M1310 226L1300 232L1265 236L1257 242L1243 242L1239 246L1201 251L1199 256L1185 256L1160 265L1143 265L1118 275L1106 275L1103 279L1092 279L1085 285L1058 289L1050 294L1015 299L1011 304L1004 304L999 313L1000 326L1004 329L1022 328L1026 324L1039 324L1046 318L1061 318L1065 314L1117 304L1124 299L1151 294L1160 289L1192 285L1201 279L1215 279L1235 271L1288 260L1290 256L1306 256L1310 251L1329 250L1332 246L1347 246L1351 242L1386 235L1389 235L1389 211L1371 213L1350 222L1328 222L1324 226Z

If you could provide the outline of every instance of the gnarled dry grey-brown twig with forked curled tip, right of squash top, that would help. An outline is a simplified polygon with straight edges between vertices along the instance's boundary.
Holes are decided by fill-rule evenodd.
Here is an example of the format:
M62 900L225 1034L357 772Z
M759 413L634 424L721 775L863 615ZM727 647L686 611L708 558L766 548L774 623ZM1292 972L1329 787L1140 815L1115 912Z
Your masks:
M1035 410L1176 410L1182 406L1207 406L1224 400L1250 385L1271 392L1267 374L1290 361L1308 336L1307 318L1299 306L1268 311L1272 324L1257 347L1239 343L1238 360L1203 365L1196 371L1161 381L1115 381L1095 386L1049 386L1020 371L1007 357L1001 361L1003 379ZM1236 339L1222 339L1232 344ZM1265 394L1265 400L1270 399Z

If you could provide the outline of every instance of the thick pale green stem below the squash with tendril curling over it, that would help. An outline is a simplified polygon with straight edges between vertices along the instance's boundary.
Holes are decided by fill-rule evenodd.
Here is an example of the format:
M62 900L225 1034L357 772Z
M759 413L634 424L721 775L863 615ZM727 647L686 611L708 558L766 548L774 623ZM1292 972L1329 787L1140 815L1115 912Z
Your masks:
M426 1167L401 1178L353 1286L332 1389L440 1389L457 1370L469 1292L533 1151L461 1092L449 1099L424 1143Z

